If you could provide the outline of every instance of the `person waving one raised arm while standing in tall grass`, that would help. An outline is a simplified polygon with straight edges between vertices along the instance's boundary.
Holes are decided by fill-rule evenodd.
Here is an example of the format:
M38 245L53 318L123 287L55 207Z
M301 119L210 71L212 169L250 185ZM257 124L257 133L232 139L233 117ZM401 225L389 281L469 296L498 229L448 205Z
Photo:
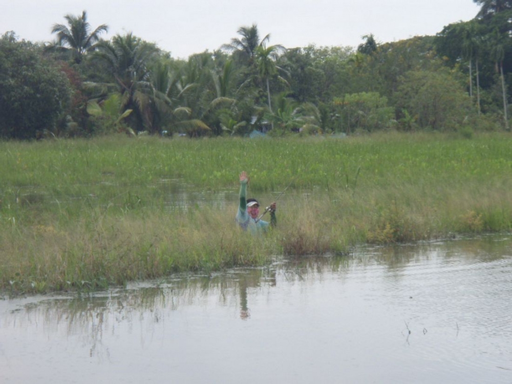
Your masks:
M252 234L265 232L269 227L274 227L277 223L275 218L275 201L266 208L270 212L270 223L259 220L260 203L256 199L246 199L248 183L249 177L244 170L240 174L240 204L236 217L237 223L243 230L249 230Z

